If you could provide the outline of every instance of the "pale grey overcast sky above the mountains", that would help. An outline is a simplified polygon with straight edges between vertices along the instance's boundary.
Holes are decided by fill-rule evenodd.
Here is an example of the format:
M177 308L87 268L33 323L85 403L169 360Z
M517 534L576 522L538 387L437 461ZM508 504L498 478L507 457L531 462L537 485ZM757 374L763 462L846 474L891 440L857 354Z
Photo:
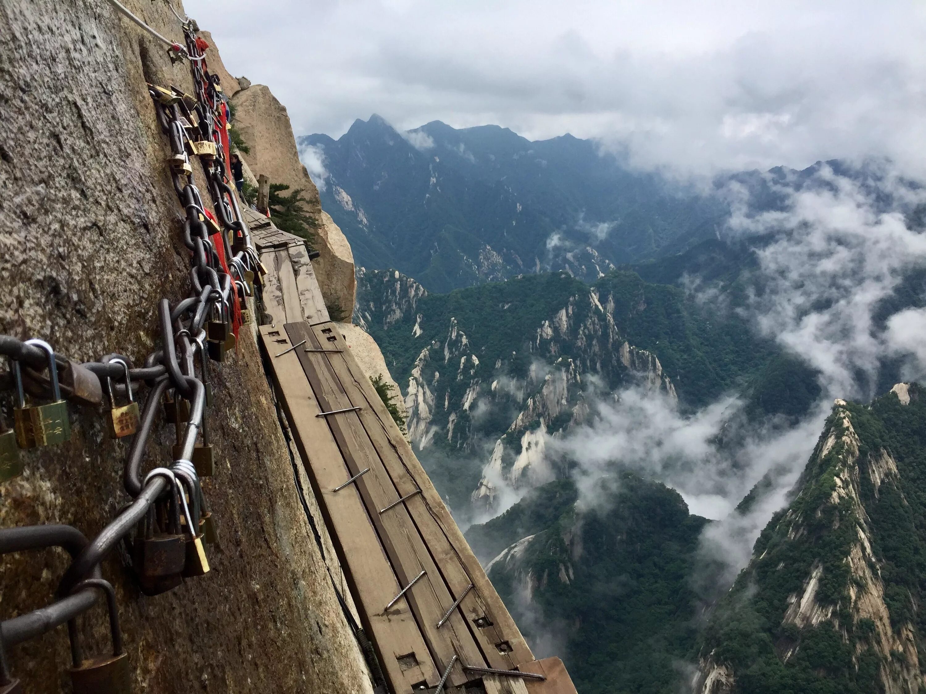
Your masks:
M233 74L297 134L379 113L571 132L643 165L926 159L926 4L914 0L187 0Z

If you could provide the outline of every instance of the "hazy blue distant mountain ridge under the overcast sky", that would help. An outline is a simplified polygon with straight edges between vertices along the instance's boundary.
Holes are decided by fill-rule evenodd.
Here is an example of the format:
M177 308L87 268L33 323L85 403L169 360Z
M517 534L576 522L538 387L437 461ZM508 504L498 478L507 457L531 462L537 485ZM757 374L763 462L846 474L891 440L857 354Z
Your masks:
M710 238L727 215L720 199L569 134L531 142L440 121L399 132L373 115L299 144L324 163L322 204L357 266L394 267L429 291L557 269L594 281Z

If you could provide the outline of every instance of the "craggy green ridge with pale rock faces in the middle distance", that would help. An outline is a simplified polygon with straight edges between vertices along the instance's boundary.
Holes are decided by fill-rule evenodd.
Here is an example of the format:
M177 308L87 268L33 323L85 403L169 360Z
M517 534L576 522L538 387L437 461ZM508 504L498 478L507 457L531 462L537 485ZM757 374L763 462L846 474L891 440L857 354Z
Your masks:
M482 293L465 299L432 295L441 303L427 308L427 291L394 270L357 278L355 320L387 353L417 354L404 373L390 365L407 383L412 442L426 461L450 454L484 467L466 492L481 511L494 508L501 484L555 477L545 443L584 421L590 393L635 383L676 397L656 355L621 336L610 296L603 303L565 273L468 290Z

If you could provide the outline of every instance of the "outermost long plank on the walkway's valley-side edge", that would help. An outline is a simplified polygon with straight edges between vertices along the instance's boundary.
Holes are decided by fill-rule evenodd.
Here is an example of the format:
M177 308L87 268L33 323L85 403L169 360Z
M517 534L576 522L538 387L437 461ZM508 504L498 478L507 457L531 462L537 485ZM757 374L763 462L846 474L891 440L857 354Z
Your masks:
M369 378L364 375L354 355L350 353L343 336L337 331L336 327L328 333L323 333L322 330L324 329L325 326L313 328L316 339L319 343L326 344L327 349L342 350L340 353L327 355L329 363L339 378L348 400L361 406L357 416L372 441L376 452L379 454L387 474L392 479L398 497L404 497L417 489L421 489L423 492L425 488L432 490L434 496L437 496L430 478L423 476L416 480L406 462L402 460L397 441L402 440L404 443L404 437L395 425L392 416L389 415L388 410L385 409L382 399L373 389ZM334 340L330 340L332 336ZM441 506L444 506L443 502L440 503ZM511 634L498 626L495 621L496 611L489 604L489 601L482 598L481 590L474 588L466 592L469 585L472 584L475 587L476 582L469 575L459 553L444 533L444 529L435 517L436 514L432 514L432 502L429 501L428 496L422 493L404 502L404 504L425 545L431 552L434 564L441 571L447 587L447 592L441 595L444 610L449 609L459 596L465 594L448 623L469 630L472 638L478 642L483 659L489 667L499 670L514 669L522 661L516 660L515 657L517 656L515 654L500 650L499 647L506 649L507 646L511 646L513 649L512 638L515 640L522 639L520 632ZM492 595L499 603L501 602L497 599L494 589L492 589ZM481 626L486 624L488 626ZM447 626L441 628L447 628ZM509 638L509 635L511 638ZM502 646L502 644L507 644L507 646ZM467 664L477 665L479 663L468 662Z

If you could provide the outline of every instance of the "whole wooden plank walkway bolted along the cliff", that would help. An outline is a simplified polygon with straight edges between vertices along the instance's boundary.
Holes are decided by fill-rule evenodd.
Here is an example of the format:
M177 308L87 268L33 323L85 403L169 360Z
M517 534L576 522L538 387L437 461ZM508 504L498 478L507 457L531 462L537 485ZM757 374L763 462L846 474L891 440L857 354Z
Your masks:
M448 667L448 692L575 694L558 658L534 660L329 319L305 244L252 215L269 270L271 323L258 328L260 341L344 581L394 694L434 691ZM465 665L548 678L487 675Z

